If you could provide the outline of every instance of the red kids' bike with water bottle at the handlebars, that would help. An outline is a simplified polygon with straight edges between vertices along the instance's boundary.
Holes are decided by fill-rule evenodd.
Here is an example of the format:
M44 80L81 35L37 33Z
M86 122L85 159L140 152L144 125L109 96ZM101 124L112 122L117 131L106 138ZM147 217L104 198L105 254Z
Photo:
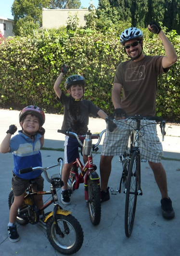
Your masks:
M85 165L81 163L79 158L73 163L68 180L68 189L73 194L73 191L79 188L79 184L84 183L85 200L88 205L90 220L94 226L99 225L101 221L101 190L100 178L96 172L97 166L93 165L91 151L98 151L99 148L97 146L100 144L105 131L103 130L101 134L92 135L89 130L86 135L78 136L69 130L58 130L58 133L76 137L82 148L82 155L88 156L88 161ZM95 138L98 139L98 142L92 144L92 139ZM83 144L82 141L84 141Z

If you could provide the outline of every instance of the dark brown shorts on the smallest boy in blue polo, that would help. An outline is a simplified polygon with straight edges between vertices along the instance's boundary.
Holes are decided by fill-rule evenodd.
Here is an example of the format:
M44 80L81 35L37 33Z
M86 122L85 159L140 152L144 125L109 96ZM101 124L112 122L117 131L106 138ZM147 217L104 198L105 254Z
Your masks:
M44 188L43 177L39 175L37 178L33 180L35 180L37 184L38 191L43 191L43 188ZM13 187L14 196L21 196L22 194L24 194L29 185L30 185L29 180L21 179L13 173L12 187Z

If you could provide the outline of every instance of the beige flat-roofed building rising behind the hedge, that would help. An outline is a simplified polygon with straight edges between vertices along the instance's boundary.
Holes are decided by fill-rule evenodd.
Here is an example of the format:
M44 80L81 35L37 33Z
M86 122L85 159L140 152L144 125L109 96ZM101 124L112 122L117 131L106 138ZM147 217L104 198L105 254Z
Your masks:
M86 24L86 17L89 13L88 9L42 9L42 28L52 29L66 26L68 16L77 14L79 18L79 27L84 27Z

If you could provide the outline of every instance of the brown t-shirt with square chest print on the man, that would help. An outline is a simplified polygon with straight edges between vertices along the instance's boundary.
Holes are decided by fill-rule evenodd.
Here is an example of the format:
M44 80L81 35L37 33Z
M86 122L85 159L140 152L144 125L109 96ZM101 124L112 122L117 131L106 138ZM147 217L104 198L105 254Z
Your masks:
M139 61L125 61L116 69L114 83L123 86L121 108L128 116L154 116L157 78L169 68L162 67L163 56L144 56Z

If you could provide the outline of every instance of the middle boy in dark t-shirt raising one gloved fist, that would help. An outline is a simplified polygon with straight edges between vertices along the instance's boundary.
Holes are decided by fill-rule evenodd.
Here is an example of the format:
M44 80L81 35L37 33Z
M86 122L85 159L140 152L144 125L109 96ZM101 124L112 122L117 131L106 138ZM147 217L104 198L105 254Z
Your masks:
M54 83L54 90L57 94L57 99L64 105L64 120L62 130L72 128L72 132L77 135L85 135L88 131L89 115L100 116L105 120L107 115L99 107L94 105L89 100L84 100L86 80L81 75L71 75L65 81L65 90L69 93L66 96L60 89L60 84L68 71L69 67L63 65L61 74ZM78 146L79 143L76 138L65 136L64 142L64 167L62 171L62 180L64 186L62 187L61 201L64 205L70 204L69 190L67 189L67 181L69 178L71 167L74 160L79 157ZM84 163L87 162L87 157L83 157Z

